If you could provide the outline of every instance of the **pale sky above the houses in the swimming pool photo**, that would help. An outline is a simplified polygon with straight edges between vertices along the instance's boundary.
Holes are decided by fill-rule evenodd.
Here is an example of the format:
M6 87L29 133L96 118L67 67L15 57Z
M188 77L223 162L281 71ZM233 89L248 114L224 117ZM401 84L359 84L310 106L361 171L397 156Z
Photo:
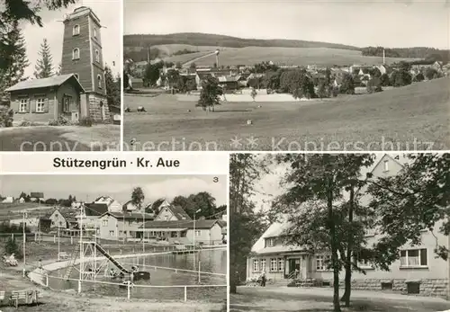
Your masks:
M225 176L217 183L210 175L4 175L0 176L0 194L18 197L21 192L43 192L46 199L67 198L94 201L109 195L122 204L130 201L133 188L140 186L145 202L159 198L171 201L177 195L210 192L218 206L227 203Z

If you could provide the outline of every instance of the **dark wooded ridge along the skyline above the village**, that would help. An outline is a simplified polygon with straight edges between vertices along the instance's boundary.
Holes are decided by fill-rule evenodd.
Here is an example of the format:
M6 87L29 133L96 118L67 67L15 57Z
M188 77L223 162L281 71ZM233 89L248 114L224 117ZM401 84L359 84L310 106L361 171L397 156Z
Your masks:
M359 48L338 43L306 41L306 40L262 40L243 39L231 36L216 35L210 33L182 32L165 35L136 34L124 35L123 47L147 47L166 44L188 44L192 46L219 46L229 48L245 47L280 47L280 48L331 48L353 49Z

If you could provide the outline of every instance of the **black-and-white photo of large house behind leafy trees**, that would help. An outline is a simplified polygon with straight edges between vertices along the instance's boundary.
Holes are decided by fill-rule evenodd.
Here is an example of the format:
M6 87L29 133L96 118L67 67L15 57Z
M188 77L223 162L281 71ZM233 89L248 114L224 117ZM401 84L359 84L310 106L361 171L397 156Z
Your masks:
M231 154L230 311L450 311L448 154Z

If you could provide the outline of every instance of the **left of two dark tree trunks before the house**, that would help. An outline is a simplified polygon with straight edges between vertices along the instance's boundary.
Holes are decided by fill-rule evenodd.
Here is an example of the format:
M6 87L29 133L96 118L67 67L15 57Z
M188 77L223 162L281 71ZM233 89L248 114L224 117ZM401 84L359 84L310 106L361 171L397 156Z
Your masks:
M339 267L338 267L338 237L336 236L336 226L333 216L333 182L329 178L328 194L328 218L329 236L331 236L331 263L333 264L333 307L334 312L341 312L339 301Z

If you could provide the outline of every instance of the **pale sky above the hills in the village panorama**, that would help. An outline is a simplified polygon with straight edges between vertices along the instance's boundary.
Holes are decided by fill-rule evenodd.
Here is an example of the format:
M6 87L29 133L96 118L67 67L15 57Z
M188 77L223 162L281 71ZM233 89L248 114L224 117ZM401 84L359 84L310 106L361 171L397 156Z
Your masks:
M448 0L123 1L125 34L205 32L356 47L449 47Z

